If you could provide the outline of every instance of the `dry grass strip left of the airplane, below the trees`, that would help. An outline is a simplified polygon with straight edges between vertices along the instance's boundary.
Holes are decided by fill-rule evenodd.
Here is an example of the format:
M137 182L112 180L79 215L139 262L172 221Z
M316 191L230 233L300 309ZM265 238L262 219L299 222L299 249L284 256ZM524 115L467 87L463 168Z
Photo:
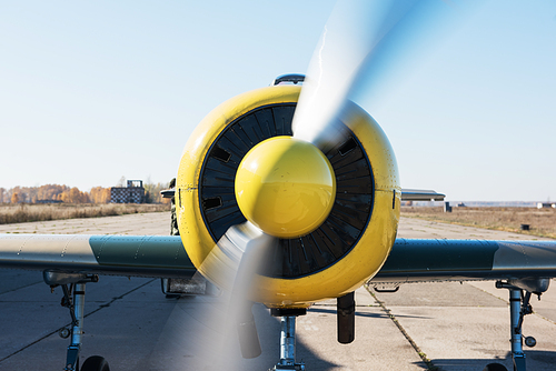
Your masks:
M123 215L140 212L169 211L170 204L161 203L52 203L52 204L0 204L0 224L29 221L61 220Z

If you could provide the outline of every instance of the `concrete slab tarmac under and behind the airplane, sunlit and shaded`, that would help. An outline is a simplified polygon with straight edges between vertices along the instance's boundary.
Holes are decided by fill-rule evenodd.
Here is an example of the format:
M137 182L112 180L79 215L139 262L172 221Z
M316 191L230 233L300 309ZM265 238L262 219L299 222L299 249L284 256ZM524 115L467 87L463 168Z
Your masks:
M0 233L169 234L169 213L0 225ZM529 235L403 218L403 238L532 239ZM529 370L556 370L556 290L532 300L524 334ZM69 339L58 330L70 315L41 272L0 270L0 370L63 370ZM242 360L234 340L222 345L222 298L167 299L160 280L101 277L87 284L81 359L99 354L112 371L267 370L279 359L279 321L262 305L254 312L262 355ZM507 290L494 282L403 285L396 293L356 292L356 340L336 341L335 301L297 320L297 360L311 370L512 370ZM431 368L433 369L433 368Z

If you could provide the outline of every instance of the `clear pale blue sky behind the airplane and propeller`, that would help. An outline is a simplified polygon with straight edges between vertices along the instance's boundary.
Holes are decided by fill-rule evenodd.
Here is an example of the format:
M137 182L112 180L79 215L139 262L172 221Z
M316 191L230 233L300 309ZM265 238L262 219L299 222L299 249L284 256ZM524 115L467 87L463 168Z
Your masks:
M3 2L0 187L168 181L212 108L305 72L332 7ZM489 1L373 107L361 98L403 187L450 200L556 199L555 17L548 0Z

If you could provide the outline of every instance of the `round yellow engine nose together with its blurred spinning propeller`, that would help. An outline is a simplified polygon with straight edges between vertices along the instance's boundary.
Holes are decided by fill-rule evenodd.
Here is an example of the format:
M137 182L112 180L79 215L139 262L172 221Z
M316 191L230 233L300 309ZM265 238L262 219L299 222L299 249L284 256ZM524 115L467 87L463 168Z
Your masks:
M370 91L376 103L445 34L431 26L454 23L453 10L440 0L339 1L300 94L297 79L239 96L188 141L180 233L199 272L231 293L245 357L260 353L249 303L305 310L354 291L386 260L399 217L396 161L353 100Z

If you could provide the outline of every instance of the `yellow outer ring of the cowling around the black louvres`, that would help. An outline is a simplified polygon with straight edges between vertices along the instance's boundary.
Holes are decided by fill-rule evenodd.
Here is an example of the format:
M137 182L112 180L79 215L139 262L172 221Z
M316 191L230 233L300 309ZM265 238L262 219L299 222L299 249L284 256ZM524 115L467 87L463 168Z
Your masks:
M196 267L216 244L201 217L198 189L211 143L240 116L262 106L297 102L299 91L297 86L277 86L237 96L210 112L189 138L179 166L176 203L181 239ZM251 300L271 308L308 307L354 291L386 261L399 220L400 187L394 151L378 123L359 107L355 106L342 121L357 137L373 169L374 204L365 232L342 259L327 269L296 279L260 277Z

